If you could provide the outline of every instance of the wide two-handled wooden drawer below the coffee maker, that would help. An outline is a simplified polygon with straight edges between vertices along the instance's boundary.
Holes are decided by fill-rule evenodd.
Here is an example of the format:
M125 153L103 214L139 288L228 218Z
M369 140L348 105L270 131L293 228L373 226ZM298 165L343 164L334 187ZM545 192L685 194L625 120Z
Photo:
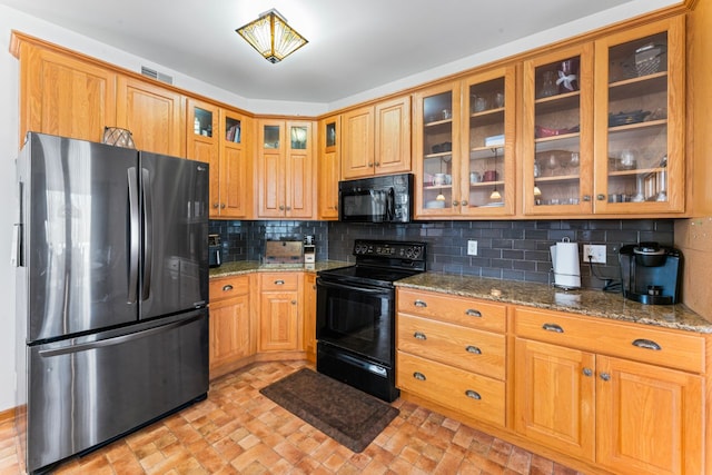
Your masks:
M517 307L517 336L603 355L703 373L704 339L688 331Z

